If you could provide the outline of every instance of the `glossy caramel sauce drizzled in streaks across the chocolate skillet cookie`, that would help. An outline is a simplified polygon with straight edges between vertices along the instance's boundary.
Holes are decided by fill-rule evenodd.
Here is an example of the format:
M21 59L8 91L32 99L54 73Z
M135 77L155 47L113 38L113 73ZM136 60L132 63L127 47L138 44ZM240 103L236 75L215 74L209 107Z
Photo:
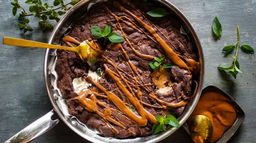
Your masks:
M124 0L125 2L126 0ZM126 1L128 2L128 1ZM132 4L131 4L132 5ZM164 42L163 39L161 39L159 37L159 35L156 34L156 31L153 30L152 27L150 27L149 25L145 24L142 20L140 20L138 17L136 17L134 14L132 14L130 11L126 10L124 7L122 7L119 3L117 2L114 2L114 6L117 7L119 10L121 11L124 11L125 13L129 14L131 17L133 17L143 28L145 28L149 34L151 34L156 40L154 40L152 37L150 37L148 34L146 34L145 31L142 30L142 28L140 28L138 25L136 25L132 20L130 20L128 17L125 17L125 16L122 16L122 17L117 17L115 14L113 14L107 7L104 7L105 8L105 12L107 14L110 14L111 16L114 17L114 19L116 20L116 26L117 28L122 32L123 36L124 36L124 39L125 41L128 43L129 47L132 49L132 51L138 55L139 57L143 58L143 59L146 59L146 60L152 60L154 59L154 56L151 56L151 55L146 55L146 54L141 54L139 53L131 44L131 42L128 40L127 36L125 35L123 29L122 29L122 26L120 24L119 21L123 22L124 24L128 25L129 27L132 27L134 29L136 29L137 31L139 31L140 33L143 33L146 35L146 37L148 37L149 39L151 39L153 42L156 42L158 44L160 44L160 46L163 48L163 50L165 51L165 53L167 54L167 56L171 59L171 61L179 66L180 68L185 68L189 71L193 71L195 69L196 66L199 65L198 62L194 61L193 59L184 59L186 61L186 63L181 59L183 58L181 56L181 58L179 58L180 55L176 54L174 51L172 51L172 49L167 45L167 43ZM132 5L133 8L136 8ZM142 14L140 11L139 11L140 14ZM143 14L142 14L143 16ZM128 20L129 22L126 22L123 20L126 19ZM144 17L146 18L146 17ZM146 19L147 20L147 19ZM148 20L149 21L149 20ZM150 21L149 21L150 24L152 24ZM157 27L156 27L157 29ZM159 29L157 29L159 31ZM161 32L161 31L160 31ZM167 38L167 37L166 37ZM167 39L169 41L169 39ZM71 43L74 43L74 44L81 44L80 42L76 41L75 38L73 37L70 37L69 35L65 36L63 38L63 41L68 44L69 46L73 47ZM171 41L169 41L171 42ZM87 42L87 44L89 44L90 47L92 47L95 51L98 51L100 53L103 54L103 51L101 48L99 48L99 46L97 44L94 44L92 45L91 43ZM176 48L174 46L174 48ZM87 77L86 78L86 81L87 82L90 82L92 83L93 85L96 85L97 89L100 89L103 93L102 94L99 94L97 93L95 90L96 89L83 89L79 96L78 96L78 101L79 101L79 104L80 106L82 106L83 108L85 108L87 111L89 112L94 112L96 114L98 114L100 117L102 117L102 121L104 123L106 123L106 125L108 127L110 127L111 129L113 129L116 133L119 133L119 131L117 129L115 129L113 126L111 126L111 123L114 123L116 124L117 126L121 126L122 128L124 129L127 129L123 123L121 123L121 121L116 117L114 116L114 114L112 114L111 111L113 112L123 112L126 116L124 116L126 119L132 121L132 123L135 123L135 126L139 128L139 126L146 126L147 125L147 122L149 123L156 123L156 119L155 117L150 113L148 112L146 109L143 108L143 105L145 106L149 106L149 107L152 107L152 108L157 108L157 109L166 109L167 107L171 107L171 108L178 108L178 107L181 107L181 106L185 106L187 103L188 103L188 97L185 98L183 101L179 102L179 103L175 103L176 101L178 101L178 99L176 101L174 101L173 103L168 103L168 102L164 102L160 99L157 98L156 95L154 95L153 91L151 91L151 89L149 89L148 86L150 85L153 85L152 83L149 83L149 84L146 84L145 82L143 82L143 79L142 79L142 76L139 75L139 72L137 71L135 65L132 63L132 61L130 60L130 58L128 57L128 54L126 53L126 51L124 50L124 48L122 47L122 44L121 43L110 43L107 45L106 47L107 50L113 50L113 51L119 51L120 54L122 55L122 57L124 58L124 60L126 61L132 75L128 74L127 72L125 72L124 70L122 70L121 68L119 68L117 65L114 65L114 63L112 61L110 61L109 59L107 59L106 57L104 57L102 55L102 59L99 59L98 61L101 61L103 62L103 67L105 68L105 73L110 76L110 78L112 78L112 80L114 81L115 85L116 85L116 89L112 90L111 92L108 91L107 89L105 89L102 85L100 85L97 81L94 81L91 77ZM122 53L121 53L122 52ZM112 67L114 67L115 71L112 71L108 66L108 65L111 65ZM135 83L132 83L132 82L129 82L127 79L125 79L123 77L123 75L121 74L121 72L124 74L124 75L127 75L127 77L129 78L132 78L132 80L135 82ZM190 74L189 74L190 75ZM137 80L137 77L139 77L140 79L140 82ZM189 82L189 78L188 77L188 82ZM124 84L121 82L123 81ZM142 82L142 83L141 83ZM187 85L188 86L188 85ZM133 92L132 90L132 87L135 87L137 90L138 90L138 93L137 95L135 95L135 93ZM146 92L149 93L149 96L153 99L156 99L156 101L158 103L160 103L161 106L153 106L153 105L150 105L150 104L147 104L145 102L142 102L142 92L141 92L141 89L140 87L142 87ZM197 87L197 82L196 82L196 87ZM132 112L128 107L127 107L127 103L124 102L124 97L121 93L124 93L128 99L132 102L132 105L135 107L136 109L136 112L138 112L139 115L137 115L135 112ZM122 100L117 96L115 95L113 92L114 91L118 91L122 97ZM196 91L194 92L193 96L195 95ZM184 94L184 93L183 93ZM182 94L182 95L183 95ZM181 96L182 96L181 95ZM111 100L112 102L114 102L114 104L120 109L120 111L116 110L116 109L111 109L110 107L107 107L104 105L103 102L100 102L96 96L99 96L99 97L102 97L102 98L105 98L107 100ZM179 98L181 98L181 96ZM137 98L138 97L138 98ZM104 113L100 112L99 109L98 109L98 105L103 107L104 109ZM131 106L131 105L128 105L128 106ZM163 114L163 111L161 110L162 114ZM121 114L120 114L121 115ZM114 118L116 119L113 119L112 117L110 116L114 116ZM121 115L123 116L123 115ZM132 132L130 129L127 129L128 131L130 131L131 133L133 134L136 134L134 132ZM142 133L142 130L139 128L139 130L141 131Z

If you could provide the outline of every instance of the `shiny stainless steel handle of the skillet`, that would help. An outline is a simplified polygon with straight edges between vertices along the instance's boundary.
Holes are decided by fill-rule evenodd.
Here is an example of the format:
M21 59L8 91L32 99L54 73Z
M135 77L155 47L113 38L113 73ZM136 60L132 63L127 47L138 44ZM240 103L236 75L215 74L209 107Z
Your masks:
M56 126L60 122L60 118L55 120L51 119L54 114L56 114L56 112L54 109L52 109L46 115L28 125L4 143L28 143L36 139L38 136L46 133L49 129Z

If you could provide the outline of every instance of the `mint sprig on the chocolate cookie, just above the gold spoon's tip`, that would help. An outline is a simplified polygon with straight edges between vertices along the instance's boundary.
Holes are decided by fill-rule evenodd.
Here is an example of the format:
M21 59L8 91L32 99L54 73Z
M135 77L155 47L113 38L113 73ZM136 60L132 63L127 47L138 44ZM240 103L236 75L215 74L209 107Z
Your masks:
M104 38L103 44L106 44L107 39L112 43L121 43L124 41L124 38L120 34L113 32L113 28L109 24L106 25L104 30L98 26L91 26L91 32L96 38Z

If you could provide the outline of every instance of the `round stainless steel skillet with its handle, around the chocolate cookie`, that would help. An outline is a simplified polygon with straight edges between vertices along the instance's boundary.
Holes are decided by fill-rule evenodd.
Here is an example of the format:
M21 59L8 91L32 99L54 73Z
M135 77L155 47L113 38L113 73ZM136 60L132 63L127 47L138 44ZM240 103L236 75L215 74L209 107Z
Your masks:
M71 8L61 18L60 22L55 27L53 33L51 34L49 44L58 44L61 38L66 34L71 26L71 24L81 18L83 15L86 14L88 7L91 3L95 3L96 1L101 0L82 0L74 7ZM193 109L196 106L196 103L199 99L200 93L203 88L203 79L204 79L204 58L203 58L203 50L199 39L194 31L192 25L186 19L186 17L176 8L174 5L169 3L167 0L150 0L156 5L160 7L166 7L172 12L172 16L178 19L181 22L182 27L184 28L185 32L188 34L190 40L194 43L197 48L197 54L199 57L200 62L200 73L199 77L197 78L198 87L195 97L189 101L188 105L186 106L182 115L178 118L180 124L185 123L188 116L191 114ZM54 61L56 60L57 55L55 50L47 49L45 54L44 60L44 78L45 78L45 85L46 90L49 95L50 101L53 105L53 110L48 112L45 116L41 117L40 119L36 120L34 123L26 127L25 129L21 130L21 132L14 135L11 139L7 140L6 142L11 143L19 143L19 142L29 142L35 139L37 136L45 133L47 130L51 129L53 126L57 125L57 123L62 120L69 128L71 128L75 133L82 136L86 140L91 142L101 143L101 142L111 142L111 143L137 143L137 142L145 142L145 143L154 143L160 140L163 140L167 136L174 133L178 128L172 127L168 128L167 132L162 132L156 134L154 136L145 136L145 137L136 137L136 138L129 138L129 139L114 139L108 138L100 135L99 132L95 130L91 130L86 126L82 125L76 118L73 116L68 116L66 114L67 110L64 106L61 105L61 102L64 102L62 99L61 94L59 94L58 89L56 89L56 75L54 75ZM57 114L60 118L52 120L51 117Z

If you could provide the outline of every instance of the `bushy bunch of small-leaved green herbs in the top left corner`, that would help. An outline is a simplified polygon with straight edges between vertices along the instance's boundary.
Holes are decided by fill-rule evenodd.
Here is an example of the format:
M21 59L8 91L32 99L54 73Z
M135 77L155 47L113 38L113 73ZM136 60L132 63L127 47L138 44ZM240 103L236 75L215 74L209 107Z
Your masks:
M18 13L18 27L24 33L33 31L32 27L29 27L30 20L28 17L31 16L39 18L38 24L43 28L43 31L53 31L54 27L49 23L49 20L59 22L60 17L71 9L70 6L75 5L79 1L81 0L69 0L69 2L64 3L63 0L51 0L53 5L50 5L50 3L43 4L41 0L26 0L25 3L29 5L29 8L25 10L25 8L21 7L24 3L20 5L18 0L14 0L11 2L13 6L12 14L15 16ZM20 12L17 11L19 9Z

